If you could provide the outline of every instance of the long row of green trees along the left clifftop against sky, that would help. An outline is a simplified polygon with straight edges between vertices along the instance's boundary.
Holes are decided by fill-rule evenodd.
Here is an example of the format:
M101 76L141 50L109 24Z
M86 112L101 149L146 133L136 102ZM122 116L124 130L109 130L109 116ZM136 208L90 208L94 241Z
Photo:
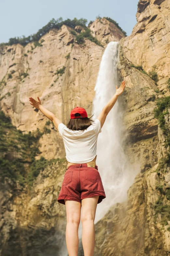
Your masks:
M12 45L12 44L17 44L17 43L20 43L21 45L25 46L27 43L30 43L30 42L35 42L35 47L36 46L42 46L41 43L43 43L44 40L42 39L40 43L38 43L38 41L40 40L40 38L43 35L48 33L51 28L59 29L63 25L66 25L66 26L69 26L69 27L72 27L72 28L75 28L75 26L85 27L86 23L87 23L87 20L83 19L83 18L81 18L79 20L77 18L74 18L73 20L67 19L65 21L63 21L62 18L59 18L59 19L56 19L56 20L52 19L52 20L50 20L50 22L46 26L39 29L36 34L33 34L31 36L28 36L28 37L22 36L22 37L17 37L17 38L16 37L10 38L8 43L3 43L3 44L1 44L1 46Z

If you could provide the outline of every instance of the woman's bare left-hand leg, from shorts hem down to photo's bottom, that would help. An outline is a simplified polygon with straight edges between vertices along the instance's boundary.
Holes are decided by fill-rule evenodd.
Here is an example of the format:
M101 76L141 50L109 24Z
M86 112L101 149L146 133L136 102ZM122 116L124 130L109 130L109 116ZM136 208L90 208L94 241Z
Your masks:
M78 255L78 226L80 223L81 203L64 199L67 225L66 225L66 245L69 256Z

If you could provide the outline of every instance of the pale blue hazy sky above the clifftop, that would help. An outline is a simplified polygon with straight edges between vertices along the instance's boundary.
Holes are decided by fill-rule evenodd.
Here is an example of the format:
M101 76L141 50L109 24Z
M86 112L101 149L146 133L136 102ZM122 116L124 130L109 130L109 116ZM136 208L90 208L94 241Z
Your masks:
M110 17L129 36L136 24L138 0L0 0L0 43L35 34L52 18Z

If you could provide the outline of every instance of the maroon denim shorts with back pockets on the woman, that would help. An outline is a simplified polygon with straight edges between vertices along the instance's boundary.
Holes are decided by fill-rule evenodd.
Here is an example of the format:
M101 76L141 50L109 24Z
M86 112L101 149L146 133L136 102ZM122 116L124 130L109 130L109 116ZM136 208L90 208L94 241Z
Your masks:
M64 174L58 202L65 204L64 199L81 202L81 199L99 196L98 204L106 198L98 167L88 167L87 163L70 165Z

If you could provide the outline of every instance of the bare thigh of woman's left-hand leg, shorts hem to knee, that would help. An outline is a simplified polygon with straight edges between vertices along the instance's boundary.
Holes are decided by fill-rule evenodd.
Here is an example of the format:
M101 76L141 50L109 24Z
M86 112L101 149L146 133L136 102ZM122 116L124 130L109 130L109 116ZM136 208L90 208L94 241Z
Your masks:
M81 203L73 200L64 199L67 222L80 223Z

